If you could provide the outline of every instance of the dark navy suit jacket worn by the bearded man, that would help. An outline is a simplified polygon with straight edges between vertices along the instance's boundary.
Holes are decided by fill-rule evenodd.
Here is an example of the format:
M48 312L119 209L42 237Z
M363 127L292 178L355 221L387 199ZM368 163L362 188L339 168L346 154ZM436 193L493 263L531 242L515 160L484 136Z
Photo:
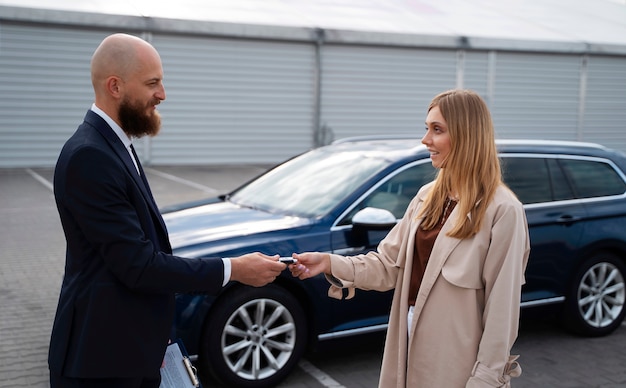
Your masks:
M218 292L222 260L171 254L149 188L93 111L61 151L54 195L67 253L50 370L78 378L158 376L174 294Z

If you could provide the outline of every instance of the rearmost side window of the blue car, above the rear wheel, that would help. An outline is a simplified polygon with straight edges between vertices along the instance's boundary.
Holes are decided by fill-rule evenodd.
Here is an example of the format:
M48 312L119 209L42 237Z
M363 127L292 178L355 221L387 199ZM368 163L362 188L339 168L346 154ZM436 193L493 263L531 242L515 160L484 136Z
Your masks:
M608 163L561 159L559 164L572 182L578 198L604 197L626 192L626 183Z

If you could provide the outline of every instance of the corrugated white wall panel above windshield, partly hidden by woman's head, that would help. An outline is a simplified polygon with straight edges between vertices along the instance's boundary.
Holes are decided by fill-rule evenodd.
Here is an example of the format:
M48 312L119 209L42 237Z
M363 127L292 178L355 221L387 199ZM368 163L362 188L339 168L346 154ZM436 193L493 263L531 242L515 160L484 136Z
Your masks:
M422 136L431 99L456 83L456 52L403 48L322 48L321 122L335 138Z

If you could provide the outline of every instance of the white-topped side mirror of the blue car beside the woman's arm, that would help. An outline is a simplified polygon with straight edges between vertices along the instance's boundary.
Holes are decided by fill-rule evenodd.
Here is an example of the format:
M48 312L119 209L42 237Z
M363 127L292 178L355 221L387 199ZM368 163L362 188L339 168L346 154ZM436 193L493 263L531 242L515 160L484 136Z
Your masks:
M354 245L378 245L396 225L396 217L385 209L366 207L352 217Z

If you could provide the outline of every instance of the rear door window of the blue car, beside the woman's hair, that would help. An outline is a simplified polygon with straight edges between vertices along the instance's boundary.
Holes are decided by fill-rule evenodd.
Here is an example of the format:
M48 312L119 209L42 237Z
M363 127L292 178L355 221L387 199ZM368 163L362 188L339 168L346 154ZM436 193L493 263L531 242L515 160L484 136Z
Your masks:
M523 204L552 201L550 170L544 158L503 157L504 182Z

